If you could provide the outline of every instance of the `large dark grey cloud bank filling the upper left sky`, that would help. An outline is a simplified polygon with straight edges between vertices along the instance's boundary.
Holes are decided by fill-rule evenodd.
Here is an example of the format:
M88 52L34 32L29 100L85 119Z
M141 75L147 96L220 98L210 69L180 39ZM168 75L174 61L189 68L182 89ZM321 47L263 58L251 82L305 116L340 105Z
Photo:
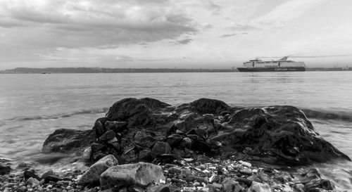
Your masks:
M13 34L28 31L34 36L22 36L24 43L38 38L53 48L134 44L196 32L192 20L170 10L167 2L3 1L0 27L15 28Z

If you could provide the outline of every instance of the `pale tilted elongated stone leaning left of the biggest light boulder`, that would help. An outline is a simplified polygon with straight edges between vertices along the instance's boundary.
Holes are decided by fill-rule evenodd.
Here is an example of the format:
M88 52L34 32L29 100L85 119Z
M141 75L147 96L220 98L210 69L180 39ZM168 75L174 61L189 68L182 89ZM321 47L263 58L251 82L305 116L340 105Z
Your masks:
M77 184L94 184L99 182L100 175L109 167L118 165L118 160L113 155L107 155L94 163L87 172L82 174L82 177L77 181Z

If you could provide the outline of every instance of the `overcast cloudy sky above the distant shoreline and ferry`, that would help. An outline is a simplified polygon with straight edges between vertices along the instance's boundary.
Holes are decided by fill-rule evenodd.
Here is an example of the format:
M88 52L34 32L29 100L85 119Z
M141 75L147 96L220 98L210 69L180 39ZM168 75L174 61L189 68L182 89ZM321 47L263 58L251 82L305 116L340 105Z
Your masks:
M352 67L351 0L0 0L0 69Z

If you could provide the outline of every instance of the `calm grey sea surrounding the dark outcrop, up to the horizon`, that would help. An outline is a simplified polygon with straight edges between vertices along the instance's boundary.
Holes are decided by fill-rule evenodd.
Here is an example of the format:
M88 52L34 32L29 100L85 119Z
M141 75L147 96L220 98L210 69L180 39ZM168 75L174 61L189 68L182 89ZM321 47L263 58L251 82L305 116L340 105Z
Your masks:
M55 129L92 129L122 98L178 105L215 98L233 106L294 105L322 138L352 158L352 72L0 74L0 158L41 160ZM313 165L338 190L352 189L352 163Z

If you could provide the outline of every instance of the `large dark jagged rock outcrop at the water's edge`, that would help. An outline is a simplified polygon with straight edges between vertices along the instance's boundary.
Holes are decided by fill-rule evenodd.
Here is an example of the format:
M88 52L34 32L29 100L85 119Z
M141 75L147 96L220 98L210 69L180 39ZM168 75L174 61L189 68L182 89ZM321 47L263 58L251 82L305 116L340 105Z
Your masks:
M284 165L350 160L322 139L298 108L232 108L208 98L177 107L153 98L125 98L96 120L92 130L57 130L43 151L83 151L91 143L92 162L109 154L120 163L172 162L194 153L229 151Z

